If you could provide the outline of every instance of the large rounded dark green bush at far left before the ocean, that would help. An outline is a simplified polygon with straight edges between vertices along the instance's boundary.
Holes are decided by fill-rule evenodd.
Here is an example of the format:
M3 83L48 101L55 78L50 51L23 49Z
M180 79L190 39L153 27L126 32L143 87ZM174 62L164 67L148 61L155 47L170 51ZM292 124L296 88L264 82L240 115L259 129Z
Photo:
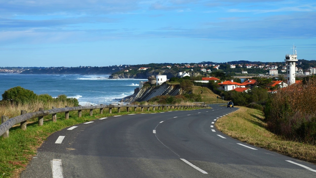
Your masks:
M24 89L21 86L10 88L2 94L3 101L11 101L11 103L15 104L25 104L35 99L37 99L37 95L33 91Z

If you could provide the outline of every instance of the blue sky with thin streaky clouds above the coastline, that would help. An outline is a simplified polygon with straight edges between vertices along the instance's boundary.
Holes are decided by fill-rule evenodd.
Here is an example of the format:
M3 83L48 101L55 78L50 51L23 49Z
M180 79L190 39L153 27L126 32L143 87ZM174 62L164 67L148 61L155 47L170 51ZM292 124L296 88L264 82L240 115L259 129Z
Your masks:
M0 67L316 60L314 0L0 0Z

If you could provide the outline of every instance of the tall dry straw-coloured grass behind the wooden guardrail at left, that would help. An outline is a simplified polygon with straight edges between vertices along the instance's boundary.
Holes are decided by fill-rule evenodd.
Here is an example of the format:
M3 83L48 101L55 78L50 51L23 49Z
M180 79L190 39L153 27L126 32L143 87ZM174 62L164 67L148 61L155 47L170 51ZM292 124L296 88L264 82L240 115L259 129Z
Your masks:
M13 118L21 114L21 110L27 112L35 112L39 111L40 108L44 108L45 110L52 109L52 106L57 108L63 108L65 106L72 107L74 106L73 102L69 101L48 101L44 102L41 100L30 101L27 104L14 104L10 102L1 102L0 103L0 115L9 116L9 118Z

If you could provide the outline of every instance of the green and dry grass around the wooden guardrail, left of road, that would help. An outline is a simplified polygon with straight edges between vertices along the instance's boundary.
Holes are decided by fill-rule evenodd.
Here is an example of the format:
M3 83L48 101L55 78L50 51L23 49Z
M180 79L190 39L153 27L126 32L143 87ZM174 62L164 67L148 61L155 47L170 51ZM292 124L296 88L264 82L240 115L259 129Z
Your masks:
M66 103L60 103L60 105L54 104L56 107L64 107ZM67 104L66 104L67 105ZM71 106L71 105L70 105ZM7 115L10 118L20 114L21 110L26 110L28 112L38 111L39 107L44 107L39 103L33 103L31 105L18 105L18 106L9 106L0 107L1 115ZM46 105L46 109L51 108L51 106ZM145 110L146 108L144 108ZM142 113L153 113L161 112L157 111L158 107L155 108L155 111L150 108L150 111L143 111ZM172 109L174 110L174 109ZM172 111L169 109L169 111ZM190 109L189 109L190 110ZM51 115L44 117L43 126L38 126L37 118L31 119L27 122L27 130L23 131L20 129L19 124L10 129L9 137L3 138L0 137L0 178L4 177L19 177L20 173L26 167L27 163L32 159L36 154L36 150L40 145L46 140L48 136L52 133L62 130L66 127L88 122L103 117L111 117L115 115L126 115L131 113L140 113L140 108L137 108L137 111L127 112L126 108L121 108L121 112L117 112L117 108L112 109L112 114L109 114L108 109L103 109L102 115L99 113L99 109L94 110L94 115L89 116L88 110L82 111L82 117L78 118L77 111L69 112L69 119L64 119L64 113L57 114L57 122L53 123Z

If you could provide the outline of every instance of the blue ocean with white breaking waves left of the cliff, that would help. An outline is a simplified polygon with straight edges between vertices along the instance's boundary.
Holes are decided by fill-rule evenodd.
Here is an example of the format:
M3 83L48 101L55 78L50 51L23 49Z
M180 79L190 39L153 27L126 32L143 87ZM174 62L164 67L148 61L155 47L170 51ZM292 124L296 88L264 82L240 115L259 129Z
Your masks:
M0 74L0 94L21 86L36 94L52 97L65 94L76 98L79 105L109 105L134 93L139 81L148 79L108 79L110 75L41 75ZM0 96L2 99L2 96Z

